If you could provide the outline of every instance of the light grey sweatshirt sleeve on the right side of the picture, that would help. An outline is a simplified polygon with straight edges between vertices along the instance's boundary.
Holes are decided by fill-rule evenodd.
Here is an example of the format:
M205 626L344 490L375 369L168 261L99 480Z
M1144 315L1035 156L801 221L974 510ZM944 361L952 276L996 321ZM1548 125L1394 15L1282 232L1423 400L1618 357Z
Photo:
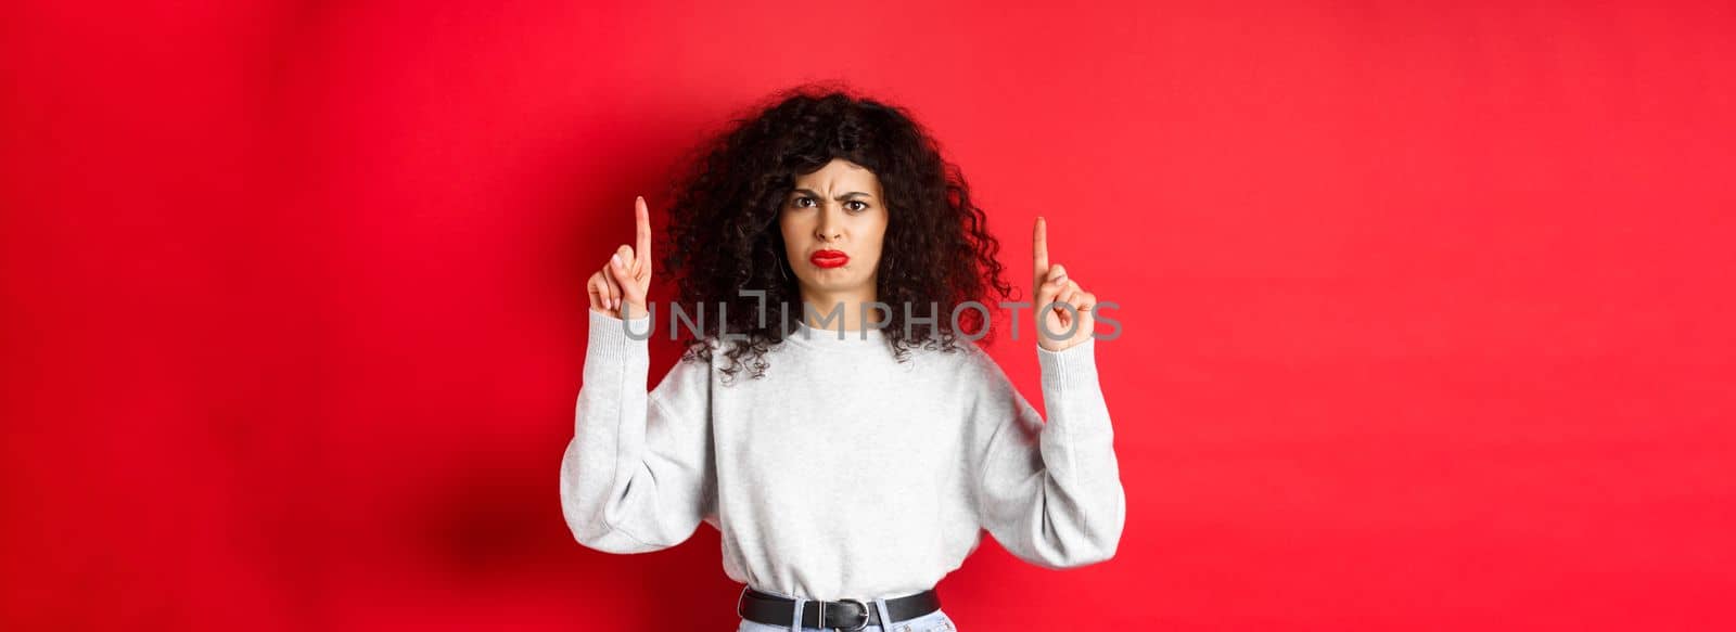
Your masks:
M977 514L995 542L1042 568L1115 557L1127 521L1095 344L1036 349L1047 424L1005 372L979 354L988 385L972 415L988 438L974 465Z

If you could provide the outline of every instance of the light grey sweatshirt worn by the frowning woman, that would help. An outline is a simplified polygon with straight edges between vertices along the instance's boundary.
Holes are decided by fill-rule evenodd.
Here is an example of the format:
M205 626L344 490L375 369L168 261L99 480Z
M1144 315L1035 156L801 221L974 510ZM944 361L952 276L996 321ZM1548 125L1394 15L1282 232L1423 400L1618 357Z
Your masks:
M649 318L589 313L561 460L561 510L585 547L660 550L705 521L729 578L826 601L932 589L983 530L1043 568L1115 556L1127 497L1095 340L1036 349L1045 424L976 344L899 363L877 330L804 325L762 379L722 384L717 352L646 392L649 342L623 325L642 339Z

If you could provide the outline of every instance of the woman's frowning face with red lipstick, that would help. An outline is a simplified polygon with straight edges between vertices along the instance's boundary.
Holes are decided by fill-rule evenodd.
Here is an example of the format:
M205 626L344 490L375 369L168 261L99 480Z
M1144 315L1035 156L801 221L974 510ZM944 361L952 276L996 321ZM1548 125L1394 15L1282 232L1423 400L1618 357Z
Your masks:
M797 175L778 212L785 255L811 293L870 293L885 238L887 210L880 179L842 158Z

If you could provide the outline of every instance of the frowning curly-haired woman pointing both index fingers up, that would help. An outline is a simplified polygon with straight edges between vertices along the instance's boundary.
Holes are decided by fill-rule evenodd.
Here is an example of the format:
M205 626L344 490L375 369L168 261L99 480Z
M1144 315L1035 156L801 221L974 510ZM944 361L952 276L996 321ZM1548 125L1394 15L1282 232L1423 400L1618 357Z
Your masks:
M1115 556L1127 500L1097 299L1049 262L1043 219L1047 424L972 340L988 309L960 306L1010 292L998 241L901 108L797 89L693 165L663 266L679 278L670 326L694 335L649 392L644 198L637 243L590 278L561 469L580 543L648 552L710 523L745 583L740 630L953 630L932 589L983 530L1043 568Z

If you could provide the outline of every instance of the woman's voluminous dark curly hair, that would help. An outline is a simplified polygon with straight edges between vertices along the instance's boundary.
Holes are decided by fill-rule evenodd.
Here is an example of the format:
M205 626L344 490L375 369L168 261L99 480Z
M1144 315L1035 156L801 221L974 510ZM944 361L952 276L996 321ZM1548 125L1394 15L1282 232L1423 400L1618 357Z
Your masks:
M885 193L889 217L875 280L878 300L892 306L882 333L898 361L908 361L918 342L951 352L963 347L960 333L986 333L988 340L993 333L984 330L990 323L979 311L963 309L958 332L951 314L963 302L993 306L988 299L1012 292L995 259L1000 241L972 203L963 174L941 156L929 132L904 108L840 87L799 85L767 102L694 148L672 184L663 267L679 280L684 311L707 306L700 335L689 335L682 359L710 361L713 351L722 351L729 358L724 382L743 366L755 379L766 375L766 351L802 319L778 214L795 175L833 158L868 168ZM766 292L764 325L760 300L738 290ZM719 304L727 306L726 318L715 318ZM906 337L903 306L911 306L915 318L932 316L936 325L911 323ZM724 326L746 340L720 346Z

